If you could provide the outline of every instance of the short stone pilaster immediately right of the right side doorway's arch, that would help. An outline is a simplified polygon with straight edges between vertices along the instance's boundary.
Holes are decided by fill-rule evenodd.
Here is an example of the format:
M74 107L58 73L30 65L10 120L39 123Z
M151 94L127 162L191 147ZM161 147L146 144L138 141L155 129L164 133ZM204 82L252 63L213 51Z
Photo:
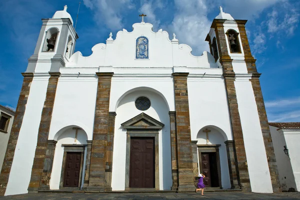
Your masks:
M239 189L240 187L238 186L237 171L236 171L236 165L235 165L236 159L234 156L233 140L227 140L227 141L224 141L224 143L226 144L231 189Z

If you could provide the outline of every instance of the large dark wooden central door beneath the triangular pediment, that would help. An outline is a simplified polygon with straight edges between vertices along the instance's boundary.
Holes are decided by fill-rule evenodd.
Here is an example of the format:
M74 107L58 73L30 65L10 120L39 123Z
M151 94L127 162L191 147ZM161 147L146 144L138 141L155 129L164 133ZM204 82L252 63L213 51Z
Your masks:
M154 178L154 138L131 137L129 187L155 187Z

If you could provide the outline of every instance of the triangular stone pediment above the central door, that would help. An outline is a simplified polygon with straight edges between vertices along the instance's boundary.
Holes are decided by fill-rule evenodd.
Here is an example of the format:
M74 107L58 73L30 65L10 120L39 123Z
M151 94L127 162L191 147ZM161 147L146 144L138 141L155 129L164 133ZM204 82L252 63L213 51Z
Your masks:
M144 112L121 123L126 129L161 129L164 124Z

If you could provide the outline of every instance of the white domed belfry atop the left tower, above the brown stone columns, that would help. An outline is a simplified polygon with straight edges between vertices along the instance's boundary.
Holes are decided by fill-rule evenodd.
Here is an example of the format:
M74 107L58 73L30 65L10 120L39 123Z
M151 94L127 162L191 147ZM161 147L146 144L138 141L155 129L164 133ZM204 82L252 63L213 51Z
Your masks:
M64 67L74 52L78 35L71 15L58 10L52 18L43 18L33 54L28 59L26 72L57 72Z

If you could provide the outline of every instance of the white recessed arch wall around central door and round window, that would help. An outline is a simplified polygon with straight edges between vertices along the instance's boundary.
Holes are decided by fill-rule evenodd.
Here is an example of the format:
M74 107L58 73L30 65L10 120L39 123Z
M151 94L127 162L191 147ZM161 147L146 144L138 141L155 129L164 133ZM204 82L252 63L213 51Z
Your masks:
M151 107L145 111L136 109L135 99L146 96L150 99ZM172 186L171 177L171 152L170 152L170 128L168 107L165 100L157 93L149 90L136 90L125 95L116 109L113 161L112 161L112 190L125 189L125 158L126 158L126 129L121 123L144 112L156 120L162 122L164 127L159 131L159 187L161 190L169 190Z

